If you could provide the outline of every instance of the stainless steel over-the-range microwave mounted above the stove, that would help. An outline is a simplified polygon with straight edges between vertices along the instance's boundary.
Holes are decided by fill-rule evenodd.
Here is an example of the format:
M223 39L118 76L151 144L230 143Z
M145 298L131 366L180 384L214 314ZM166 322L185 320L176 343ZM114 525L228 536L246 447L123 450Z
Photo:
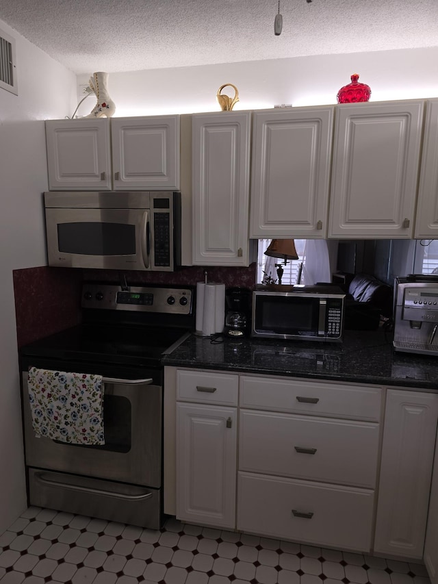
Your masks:
M181 193L44 192L49 266L172 272Z

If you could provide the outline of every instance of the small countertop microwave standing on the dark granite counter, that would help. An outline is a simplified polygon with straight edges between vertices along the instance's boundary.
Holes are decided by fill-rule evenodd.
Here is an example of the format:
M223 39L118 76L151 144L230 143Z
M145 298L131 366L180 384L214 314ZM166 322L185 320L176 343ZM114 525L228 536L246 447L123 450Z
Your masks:
M282 286L253 292L253 337L341 342L342 290L333 286Z

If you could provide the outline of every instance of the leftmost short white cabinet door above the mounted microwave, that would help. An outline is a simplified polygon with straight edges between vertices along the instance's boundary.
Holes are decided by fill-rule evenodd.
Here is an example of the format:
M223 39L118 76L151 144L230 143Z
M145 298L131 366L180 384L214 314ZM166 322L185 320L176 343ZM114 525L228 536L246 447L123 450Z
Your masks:
M110 125L96 120L47 120L50 190L110 190Z

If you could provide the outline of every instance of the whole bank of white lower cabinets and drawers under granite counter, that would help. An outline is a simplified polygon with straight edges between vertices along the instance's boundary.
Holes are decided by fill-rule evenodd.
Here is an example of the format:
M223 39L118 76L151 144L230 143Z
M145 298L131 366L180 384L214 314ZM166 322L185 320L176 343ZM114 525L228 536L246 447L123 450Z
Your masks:
M438 584L437 393L213 370L175 377L177 518L424 558Z

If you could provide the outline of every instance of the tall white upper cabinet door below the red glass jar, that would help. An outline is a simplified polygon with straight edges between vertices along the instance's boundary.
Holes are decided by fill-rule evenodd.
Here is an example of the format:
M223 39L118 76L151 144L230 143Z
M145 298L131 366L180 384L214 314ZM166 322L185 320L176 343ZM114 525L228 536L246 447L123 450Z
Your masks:
M423 102L337 107L331 238L411 238Z

